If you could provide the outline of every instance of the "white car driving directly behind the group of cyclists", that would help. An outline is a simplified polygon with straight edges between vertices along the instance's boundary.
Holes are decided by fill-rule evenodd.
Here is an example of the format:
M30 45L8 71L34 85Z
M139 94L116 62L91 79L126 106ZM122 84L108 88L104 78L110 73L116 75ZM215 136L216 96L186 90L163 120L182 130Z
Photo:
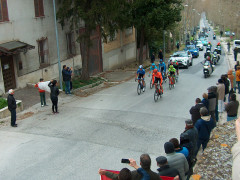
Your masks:
M173 53L173 55L168 60L168 66L170 63L177 61L179 67L186 67L188 69L189 66L193 65L193 58L190 51L177 51Z

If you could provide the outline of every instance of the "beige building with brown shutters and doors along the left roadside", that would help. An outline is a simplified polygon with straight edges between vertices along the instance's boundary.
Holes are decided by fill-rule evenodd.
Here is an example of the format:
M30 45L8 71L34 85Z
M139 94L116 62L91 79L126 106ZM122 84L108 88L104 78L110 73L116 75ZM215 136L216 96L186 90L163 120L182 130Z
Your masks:
M57 1L56 1L57 2ZM58 24L61 64L81 69L78 31ZM89 72L96 74L136 57L135 30L119 32L103 43L99 30L91 37ZM0 94L59 77L53 4L49 0L0 0Z

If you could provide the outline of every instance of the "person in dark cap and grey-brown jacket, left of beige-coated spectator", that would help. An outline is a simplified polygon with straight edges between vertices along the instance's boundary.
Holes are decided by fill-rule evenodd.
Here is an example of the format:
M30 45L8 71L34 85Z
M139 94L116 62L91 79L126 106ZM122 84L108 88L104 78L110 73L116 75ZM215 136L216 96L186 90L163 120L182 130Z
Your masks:
M211 117L216 122L215 109L216 109L217 95L214 92L214 87L215 86L211 86L211 87L208 88L208 103L209 103L208 111L209 111L209 114L211 115Z

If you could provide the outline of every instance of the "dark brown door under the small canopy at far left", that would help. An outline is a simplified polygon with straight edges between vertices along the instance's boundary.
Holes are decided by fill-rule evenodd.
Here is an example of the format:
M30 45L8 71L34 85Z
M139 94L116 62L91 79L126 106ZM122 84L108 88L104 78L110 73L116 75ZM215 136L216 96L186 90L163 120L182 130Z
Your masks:
M12 56L2 56L2 74L5 91L16 88L15 71Z

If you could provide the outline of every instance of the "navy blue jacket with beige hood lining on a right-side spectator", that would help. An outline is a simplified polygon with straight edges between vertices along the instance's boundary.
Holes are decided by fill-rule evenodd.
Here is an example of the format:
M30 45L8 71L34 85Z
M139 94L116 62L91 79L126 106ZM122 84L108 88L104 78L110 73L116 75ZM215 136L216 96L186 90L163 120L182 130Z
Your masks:
M214 128L214 121L211 116L202 116L195 124L198 130L198 139L207 140L210 138L212 129Z

